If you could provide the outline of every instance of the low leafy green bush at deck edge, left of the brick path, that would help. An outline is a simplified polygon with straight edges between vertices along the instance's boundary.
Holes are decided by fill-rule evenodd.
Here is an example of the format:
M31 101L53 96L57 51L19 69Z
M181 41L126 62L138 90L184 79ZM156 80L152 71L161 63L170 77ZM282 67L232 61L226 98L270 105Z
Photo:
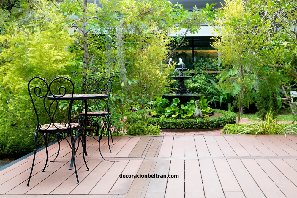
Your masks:
M127 135L159 135L160 134L160 127L148 125L145 127L142 122L138 122L135 125L128 125L127 126Z

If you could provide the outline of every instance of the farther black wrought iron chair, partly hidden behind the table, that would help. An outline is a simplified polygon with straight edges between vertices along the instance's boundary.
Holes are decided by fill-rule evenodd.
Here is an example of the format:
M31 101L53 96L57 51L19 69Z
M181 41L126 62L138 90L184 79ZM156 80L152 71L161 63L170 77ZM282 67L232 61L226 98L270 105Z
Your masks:
M80 116L78 118L79 120L78 122L84 126L84 129L83 129L84 134L86 134L85 123L96 123L96 125L99 126L99 130L97 130L100 133L99 141L102 139L102 133L104 132L104 128L106 129L107 135L108 135L108 147L109 147L110 153L111 153L111 149L109 144L109 134L111 137L111 141L113 143L113 138L112 138L111 128L110 128L111 112L108 105L111 91L112 91L112 81L109 78L102 78L99 80L99 82L94 78L87 78L86 80L84 80L83 82L84 94L106 94L108 95L108 98L88 100L87 102L89 102L89 104L88 104L87 116L85 116L85 112L82 112L80 113ZM99 134L96 134L96 135L99 135ZM82 139L85 138L84 136L82 137ZM79 140L80 139L78 139L78 142ZM101 154L100 142L99 142L99 151Z

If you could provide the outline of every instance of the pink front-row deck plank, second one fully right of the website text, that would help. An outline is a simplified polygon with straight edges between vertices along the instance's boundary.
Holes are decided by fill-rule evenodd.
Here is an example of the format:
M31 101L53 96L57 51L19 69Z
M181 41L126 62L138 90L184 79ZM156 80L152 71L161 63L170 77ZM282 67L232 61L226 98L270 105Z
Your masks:
M219 177L214 167L214 162L210 159L199 160L201 176L205 197L225 198Z

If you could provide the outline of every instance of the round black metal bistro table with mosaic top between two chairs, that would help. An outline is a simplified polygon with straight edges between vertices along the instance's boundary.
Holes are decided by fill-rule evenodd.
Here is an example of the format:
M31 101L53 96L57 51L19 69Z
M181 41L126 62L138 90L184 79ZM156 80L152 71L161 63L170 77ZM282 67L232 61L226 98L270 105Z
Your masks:
M59 97L59 96L62 96L62 95L57 95L57 97L48 96L46 99L48 99L48 100L56 100L56 99L57 100L71 100L72 94L65 94L65 96L63 96L63 97ZM85 129L86 129L86 126L87 126L87 118L88 118L88 103L87 103L87 100L104 99L104 98L108 98L108 95L107 94L73 94L73 100L83 100L85 102L85 120L84 120ZM84 137L82 137L82 138L84 138ZM84 144L84 146L85 146L85 149L84 149L85 153L84 154L88 155L87 150L86 150L86 144ZM103 158L102 154L101 154L101 157ZM70 164L69 170L72 169L72 167L73 167L73 159L72 158L73 157L71 157L71 164ZM106 160L106 161L108 161L108 160Z

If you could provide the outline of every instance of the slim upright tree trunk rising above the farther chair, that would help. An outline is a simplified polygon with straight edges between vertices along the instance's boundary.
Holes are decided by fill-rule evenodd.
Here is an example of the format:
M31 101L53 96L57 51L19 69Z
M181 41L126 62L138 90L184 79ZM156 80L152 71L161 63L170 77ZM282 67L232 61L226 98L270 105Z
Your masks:
M87 77L88 69L87 3L87 0L83 0L83 79Z

